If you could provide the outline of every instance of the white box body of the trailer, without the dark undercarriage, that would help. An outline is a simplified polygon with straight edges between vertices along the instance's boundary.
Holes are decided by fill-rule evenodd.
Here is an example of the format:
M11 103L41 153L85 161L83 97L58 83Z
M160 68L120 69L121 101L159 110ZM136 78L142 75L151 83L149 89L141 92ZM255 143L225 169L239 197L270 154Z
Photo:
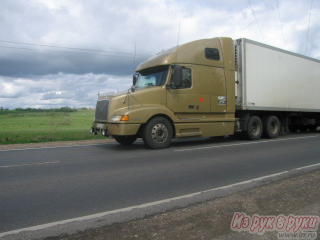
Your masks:
M320 112L320 60L245 38L236 47L237 109Z

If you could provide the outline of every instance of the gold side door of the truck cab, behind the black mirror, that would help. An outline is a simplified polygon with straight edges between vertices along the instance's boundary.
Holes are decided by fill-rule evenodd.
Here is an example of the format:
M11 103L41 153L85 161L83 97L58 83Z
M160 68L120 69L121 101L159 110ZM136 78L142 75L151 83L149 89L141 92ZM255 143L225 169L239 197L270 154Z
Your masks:
M170 71L169 86L166 91L166 105L174 113L194 112L194 87L192 86L191 67L182 68L182 86L174 88L174 70Z

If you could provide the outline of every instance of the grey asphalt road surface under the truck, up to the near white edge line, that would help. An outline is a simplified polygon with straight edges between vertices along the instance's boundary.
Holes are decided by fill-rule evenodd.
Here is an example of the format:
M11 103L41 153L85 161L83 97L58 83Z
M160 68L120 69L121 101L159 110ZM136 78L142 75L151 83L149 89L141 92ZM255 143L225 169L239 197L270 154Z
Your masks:
M0 151L0 232L138 205L320 162L320 132Z

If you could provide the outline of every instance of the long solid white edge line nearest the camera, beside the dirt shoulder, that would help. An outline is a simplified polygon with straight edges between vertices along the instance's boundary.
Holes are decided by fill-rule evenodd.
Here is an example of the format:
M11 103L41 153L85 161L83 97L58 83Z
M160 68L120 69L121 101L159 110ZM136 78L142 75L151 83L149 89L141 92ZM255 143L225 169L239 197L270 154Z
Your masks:
M232 186L251 183L252 181L263 180L265 178L269 178L269 177L272 177L272 176L278 176L278 175L281 175L281 174L284 174L284 173L288 173L289 171L300 170L300 169L308 168L308 167L312 167L312 166L320 166L320 162L316 163L316 164L312 164L312 165L307 165L307 166L294 168L294 169L287 170L287 171L282 171L282 172L278 172L278 173L274 173L274 174L270 174L270 175L266 175L266 176L253 178L253 179L246 180L246 181L233 183L233 184L226 185L226 186L220 186L220 187L216 187L216 188L212 188L212 189L208 189L208 190L204 190L204 191L198 191L198 192L194 192L194 193L190 193L190 194L186 194L186 195L182 195L182 196L176 196L176 197L167 198L167 199L163 199L163 200L159 200L159 201L148 202L148 203L144 203L144 204L140 204L140 205L124 207L124 208L111 210L111 211L104 211L104 212L100 212L100 213L96 213L96 214L80 216L80 217L65 219L65 220L61 220L61 221L50 222L50 223L45 223L45 224L41 224L41 225L20 228L20 229L11 230L11 231L5 231L5 232L1 232L0 233L0 237L5 236L5 235L9 235L9 234L16 234L16 233L19 233L21 231L34 231L34 230L39 230L39 229L44 229L44 228L47 228L47 227L55 226L55 225L58 225L58 224L64 224L64 223L71 222L71 221L88 220L88 219L93 219L93 218L96 218L96 217L102 217L102 216L105 216L105 215L109 215L109 214L112 214L112 213L130 211L130 210L132 210L134 208L143 208L143 207L153 206L153 205L157 205L157 204L160 204L160 203L169 202L171 200L177 200L177 199L181 199L181 198L192 197L192 196L195 196L195 195L199 195L199 194L201 194L203 192L214 191L214 190L219 190L219 189L226 189L226 188L230 188Z

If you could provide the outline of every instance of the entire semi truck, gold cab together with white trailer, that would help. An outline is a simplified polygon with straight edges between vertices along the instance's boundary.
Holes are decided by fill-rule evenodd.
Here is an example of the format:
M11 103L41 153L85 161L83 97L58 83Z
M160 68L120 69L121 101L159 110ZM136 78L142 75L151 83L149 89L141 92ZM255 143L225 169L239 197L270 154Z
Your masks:
M247 140L320 124L320 60L240 38L200 39L140 63L127 91L100 94L90 131L150 148L172 138Z

